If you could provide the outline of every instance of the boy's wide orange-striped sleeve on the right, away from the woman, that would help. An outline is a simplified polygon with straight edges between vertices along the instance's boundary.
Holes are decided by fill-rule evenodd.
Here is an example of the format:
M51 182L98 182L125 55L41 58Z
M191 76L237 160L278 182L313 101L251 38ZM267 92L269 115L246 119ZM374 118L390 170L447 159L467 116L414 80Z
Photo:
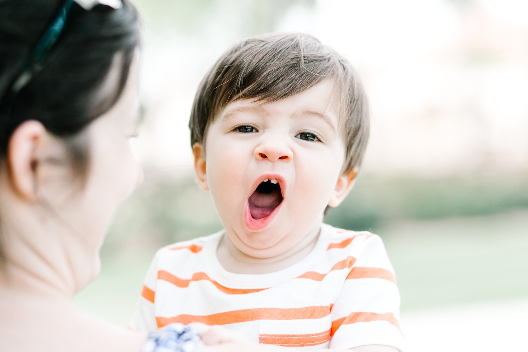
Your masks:
M381 238L358 236L351 251L356 260L331 308L329 348L386 345L403 352L400 294Z

